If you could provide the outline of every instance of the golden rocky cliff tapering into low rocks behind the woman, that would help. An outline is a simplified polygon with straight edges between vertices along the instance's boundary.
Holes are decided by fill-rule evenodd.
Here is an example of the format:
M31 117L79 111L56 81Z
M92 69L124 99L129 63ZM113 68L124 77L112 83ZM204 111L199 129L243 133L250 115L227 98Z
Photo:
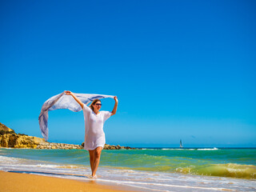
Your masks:
M14 148L34 148L34 149L83 149L82 145L66 144L66 143L55 143L45 142L44 138L37 138L28 136L26 134L16 134L14 130L3 125L0 122L0 146L2 147L14 147ZM105 145L104 150L121 150L121 149L134 149L129 146L110 146Z

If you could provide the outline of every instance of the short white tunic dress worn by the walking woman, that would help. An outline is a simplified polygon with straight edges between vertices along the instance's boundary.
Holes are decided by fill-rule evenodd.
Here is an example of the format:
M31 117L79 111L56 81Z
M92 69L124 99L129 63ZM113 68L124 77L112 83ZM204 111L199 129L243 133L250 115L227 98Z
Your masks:
M110 118L110 111L100 111L95 114L89 106L83 105L83 116L85 118L85 150L95 150L98 146L106 143L105 133L103 131L104 122Z

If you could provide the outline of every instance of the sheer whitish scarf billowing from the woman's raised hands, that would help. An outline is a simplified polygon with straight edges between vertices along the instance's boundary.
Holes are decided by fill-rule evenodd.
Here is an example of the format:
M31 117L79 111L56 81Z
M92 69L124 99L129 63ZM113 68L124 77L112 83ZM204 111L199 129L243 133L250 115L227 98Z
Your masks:
M94 99L99 98L114 98L112 95L105 94L75 94L77 98L81 100L85 105L94 101ZM48 110L58 110L58 109L69 109L74 112L82 110L82 107L74 100L71 95L66 95L65 92L62 94L57 94L49 98L43 105L41 113L39 114L39 126L42 133L42 137L48 140Z

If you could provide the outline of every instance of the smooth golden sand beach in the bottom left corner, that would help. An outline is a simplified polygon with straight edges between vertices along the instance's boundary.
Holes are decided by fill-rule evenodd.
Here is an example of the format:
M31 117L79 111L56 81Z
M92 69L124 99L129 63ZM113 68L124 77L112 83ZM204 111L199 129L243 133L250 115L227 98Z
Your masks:
M125 186L100 185L94 180L81 182L66 178L53 178L34 174L0 171L0 189L4 192L125 192L134 191Z

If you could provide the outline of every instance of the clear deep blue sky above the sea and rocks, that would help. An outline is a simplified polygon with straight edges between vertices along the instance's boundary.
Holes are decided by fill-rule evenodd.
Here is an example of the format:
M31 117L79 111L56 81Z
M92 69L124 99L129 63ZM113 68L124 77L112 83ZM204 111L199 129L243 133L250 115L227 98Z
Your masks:
M71 90L118 96L110 144L256 146L255 1L0 3L0 122L16 132L42 137L43 102ZM82 112L50 111L49 130L82 142Z

